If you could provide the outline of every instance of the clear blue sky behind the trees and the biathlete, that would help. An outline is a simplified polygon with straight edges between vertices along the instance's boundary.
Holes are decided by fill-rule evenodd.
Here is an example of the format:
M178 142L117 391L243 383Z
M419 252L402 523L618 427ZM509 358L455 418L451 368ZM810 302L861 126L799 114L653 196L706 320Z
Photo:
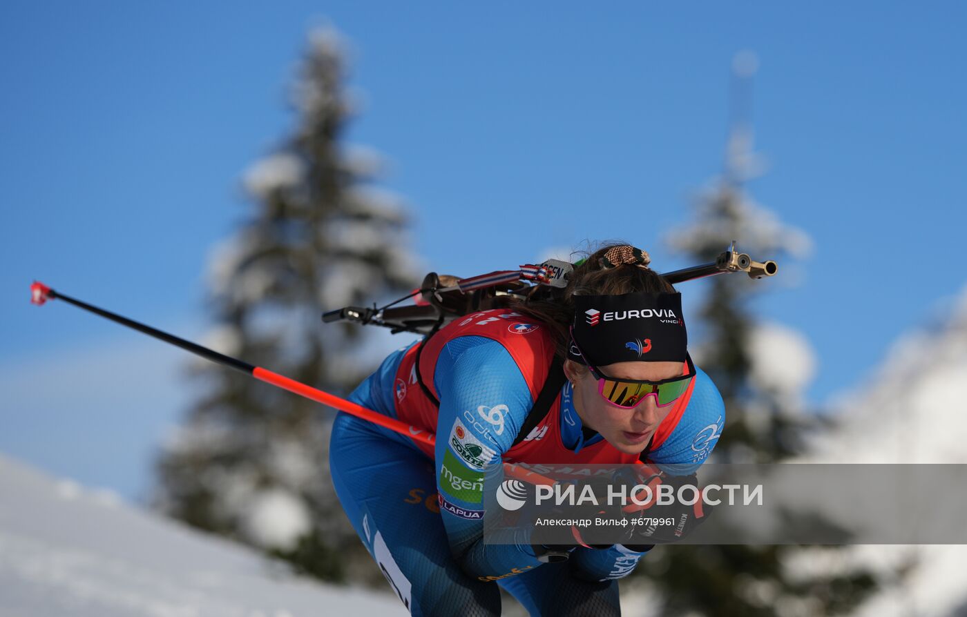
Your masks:
M207 258L249 211L242 173L292 126L286 89L326 21L352 49L347 141L387 157L428 269L604 238L684 266L661 238L720 171L729 66L751 49L771 164L748 188L815 244L756 310L811 341L810 399L967 279L962 4L197 4L0 7L0 450L52 471L142 494L190 400L186 358L33 307L30 282L199 336Z

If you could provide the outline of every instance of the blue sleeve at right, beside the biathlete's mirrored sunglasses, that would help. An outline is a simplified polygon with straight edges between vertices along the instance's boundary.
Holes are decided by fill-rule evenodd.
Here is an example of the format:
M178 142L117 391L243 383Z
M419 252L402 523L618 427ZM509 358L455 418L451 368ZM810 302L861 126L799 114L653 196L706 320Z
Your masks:
M648 458L662 471L673 475L694 473L712 453L725 425L725 404L716 384L701 369L695 369L695 387L671 435Z

